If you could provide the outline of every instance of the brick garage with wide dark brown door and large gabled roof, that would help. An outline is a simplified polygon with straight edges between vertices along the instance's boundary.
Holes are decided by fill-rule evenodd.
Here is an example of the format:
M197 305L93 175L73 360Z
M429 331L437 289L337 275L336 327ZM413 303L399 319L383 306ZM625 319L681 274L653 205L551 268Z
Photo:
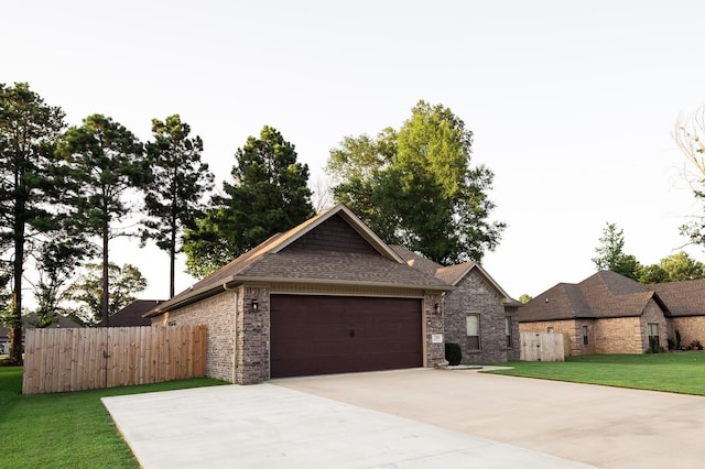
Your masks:
M154 325L207 326L206 374L270 378L445 362L443 294L345 205L276 234L158 305Z

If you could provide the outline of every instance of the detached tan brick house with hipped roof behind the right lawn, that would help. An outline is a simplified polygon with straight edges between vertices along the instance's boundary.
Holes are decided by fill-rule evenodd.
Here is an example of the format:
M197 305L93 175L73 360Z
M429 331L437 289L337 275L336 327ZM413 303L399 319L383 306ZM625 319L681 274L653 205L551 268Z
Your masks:
M566 334L571 355L643 353L665 347L670 306L660 293L610 271L560 283L519 309L522 332Z

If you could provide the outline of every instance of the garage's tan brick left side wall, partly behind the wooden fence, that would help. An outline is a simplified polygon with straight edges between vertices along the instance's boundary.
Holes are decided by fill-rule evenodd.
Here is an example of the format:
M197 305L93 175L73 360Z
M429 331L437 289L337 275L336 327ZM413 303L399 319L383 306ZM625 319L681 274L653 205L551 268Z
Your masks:
M206 377L227 382L235 378L235 292L194 303L152 319L152 326L206 326Z

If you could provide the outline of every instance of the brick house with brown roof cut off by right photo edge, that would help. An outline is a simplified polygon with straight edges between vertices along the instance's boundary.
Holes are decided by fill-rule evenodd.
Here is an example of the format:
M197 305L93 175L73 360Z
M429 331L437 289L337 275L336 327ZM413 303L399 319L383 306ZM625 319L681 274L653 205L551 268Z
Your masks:
M650 285L669 306L669 337L681 335L681 345L705 343L705 279Z

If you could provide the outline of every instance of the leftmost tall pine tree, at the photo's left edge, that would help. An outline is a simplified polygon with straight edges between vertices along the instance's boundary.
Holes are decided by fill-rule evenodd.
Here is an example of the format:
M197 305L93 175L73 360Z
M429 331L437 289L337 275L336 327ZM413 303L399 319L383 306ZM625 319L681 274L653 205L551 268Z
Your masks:
M64 112L44 102L28 84L0 84L0 253L12 264L10 357L22 363L23 274L28 253L51 229L47 192Z

